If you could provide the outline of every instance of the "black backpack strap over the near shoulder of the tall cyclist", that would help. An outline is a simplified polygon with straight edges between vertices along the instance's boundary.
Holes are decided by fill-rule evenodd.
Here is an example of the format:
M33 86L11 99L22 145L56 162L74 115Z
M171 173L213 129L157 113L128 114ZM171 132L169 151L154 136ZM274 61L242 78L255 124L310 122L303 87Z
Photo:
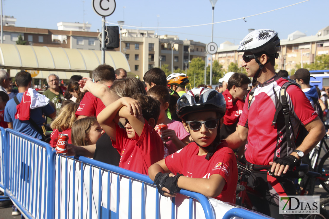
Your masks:
M288 105L288 101L287 101L286 92L287 92L287 88L290 85L295 85L295 84L288 81L288 82L286 82L282 85L282 87L280 89L280 92L279 92L279 97L278 97L279 101L280 101L280 106L276 109L275 114L274 114L274 118L273 118L273 121L272 121L272 125L275 125L276 120L277 120L277 116L278 116L280 110L282 109L283 116L285 118L285 123L286 123L286 137L287 137L287 146L288 146L288 148L291 147L291 137L290 137L291 134L290 134L290 129L289 129L289 127L290 127L289 105ZM287 153L288 153L288 150L287 150Z

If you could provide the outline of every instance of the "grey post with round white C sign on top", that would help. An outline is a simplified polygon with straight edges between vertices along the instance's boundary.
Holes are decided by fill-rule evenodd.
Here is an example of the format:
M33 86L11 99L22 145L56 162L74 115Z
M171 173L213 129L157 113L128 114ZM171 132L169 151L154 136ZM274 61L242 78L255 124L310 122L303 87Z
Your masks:
M113 14L115 0L93 0L92 8L96 14L102 16L102 64L105 63L105 17Z

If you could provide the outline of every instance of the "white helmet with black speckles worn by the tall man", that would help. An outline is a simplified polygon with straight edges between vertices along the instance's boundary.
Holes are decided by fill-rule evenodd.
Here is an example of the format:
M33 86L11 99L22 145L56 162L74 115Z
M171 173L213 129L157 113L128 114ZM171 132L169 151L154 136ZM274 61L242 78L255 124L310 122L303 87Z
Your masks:
M266 52L275 58L278 58L277 52L279 50L278 33L269 29L259 29L249 33L243 38L238 48L238 52L251 52L253 54Z

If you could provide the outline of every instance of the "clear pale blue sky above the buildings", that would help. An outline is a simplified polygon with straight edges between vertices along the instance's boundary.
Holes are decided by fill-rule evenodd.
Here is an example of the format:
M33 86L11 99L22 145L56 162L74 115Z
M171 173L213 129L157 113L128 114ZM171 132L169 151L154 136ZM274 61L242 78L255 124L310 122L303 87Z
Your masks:
M214 22L246 17L285 7L302 0L218 0L215 5ZM56 29L57 23L80 22L92 24L91 31L101 29L101 16L97 15L91 0L3 0L3 14L17 18L17 27ZM263 3L263 4L262 4ZM125 8L124 8L125 7ZM329 26L328 0L310 0L281 10L225 23L214 24L214 42L228 40L239 44L249 28L273 29L281 39L300 31L315 35ZM85 10L85 15L84 15ZM159 17L158 17L159 15ZM143 27L177 27L211 23L212 8L209 0L116 0L114 13L106 20ZM134 28L127 28L134 29ZM155 30L157 32L157 30ZM177 29L159 29L159 35L178 35L179 39L192 39L202 43L211 42L211 25Z

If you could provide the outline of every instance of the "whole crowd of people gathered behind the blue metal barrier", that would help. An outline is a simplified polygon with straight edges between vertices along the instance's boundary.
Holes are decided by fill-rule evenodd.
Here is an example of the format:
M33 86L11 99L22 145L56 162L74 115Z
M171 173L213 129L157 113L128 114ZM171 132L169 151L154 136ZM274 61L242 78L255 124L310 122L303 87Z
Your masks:
M187 189L234 204L236 157L255 166L271 165L273 176L256 174L262 182L256 189L264 197L255 199L255 209L289 218L279 215L278 200L279 195L295 195L294 185L279 176L298 165L324 136L329 91L310 86L312 76L306 69L298 69L290 80L287 72L275 73L279 48L277 32L253 31L238 49L247 76L229 72L215 89L199 85L190 91L183 73L166 77L160 68L152 68L143 83L127 77L124 69L102 64L93 78L73 76L67 87L59 86L57 75L49 75L45 98L40 98L28 72L15 76L15 93L8 73L1 70L1 126L47 141L45 125L52 130L52 147L59 134L67 134L67 155L148 174L167 197ZM287 124L277 111L277 97L291 80L294 86L287 87L285 96ZM160 135L161 124L167 129ZM300 126L304 139L297 144Z

